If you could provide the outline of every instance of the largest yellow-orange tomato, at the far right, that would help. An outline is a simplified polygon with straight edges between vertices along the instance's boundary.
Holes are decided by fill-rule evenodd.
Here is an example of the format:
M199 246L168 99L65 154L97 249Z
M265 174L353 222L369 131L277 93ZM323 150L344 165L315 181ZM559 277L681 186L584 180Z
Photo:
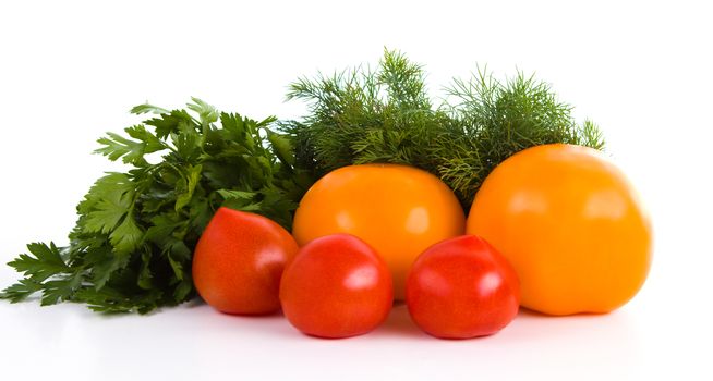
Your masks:
M475 196L468 233L512 263L524 307L551 315L624 305L651 263L651 226L635 189L579 146L537 146L500 163Z

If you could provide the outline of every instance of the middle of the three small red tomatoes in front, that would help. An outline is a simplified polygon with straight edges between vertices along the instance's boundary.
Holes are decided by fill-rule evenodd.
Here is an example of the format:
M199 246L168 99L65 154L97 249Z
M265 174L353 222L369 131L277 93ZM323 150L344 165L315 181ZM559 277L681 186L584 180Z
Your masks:
M348 337L386 319L394 285L386 262L371 246L350 234L333 234L300 249L282 275L280 300L298 330Z

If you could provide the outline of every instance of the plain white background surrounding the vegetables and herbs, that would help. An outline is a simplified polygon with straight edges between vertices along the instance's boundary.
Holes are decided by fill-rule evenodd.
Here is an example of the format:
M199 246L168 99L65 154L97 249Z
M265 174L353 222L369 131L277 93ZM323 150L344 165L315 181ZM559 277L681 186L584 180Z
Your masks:
M259 5L256 5L259 3ZM3 1L0 3L0 261L65 243L102 171L105 131L149 100L197 96L255 119L294 118L298 76L375 63L397 48L434 95L478 63L536 72L649 205L649 281L606 316L521 312L497 335L439 341L404 307L374 333L301 335L279 317L205 305L106 318L78 305L0 303L0 379L711 379L713 12L705 1ZM0 267L0 285L15 273Z

